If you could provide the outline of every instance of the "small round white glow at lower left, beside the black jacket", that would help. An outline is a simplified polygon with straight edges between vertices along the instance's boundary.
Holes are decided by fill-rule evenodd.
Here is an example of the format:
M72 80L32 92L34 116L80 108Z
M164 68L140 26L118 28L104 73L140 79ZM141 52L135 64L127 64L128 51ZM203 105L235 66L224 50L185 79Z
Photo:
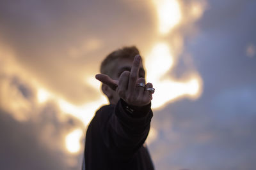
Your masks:
M81 129L76 129L66 136L65 141L68 152L77 153L81 150L80 139L82 136L83 131Z

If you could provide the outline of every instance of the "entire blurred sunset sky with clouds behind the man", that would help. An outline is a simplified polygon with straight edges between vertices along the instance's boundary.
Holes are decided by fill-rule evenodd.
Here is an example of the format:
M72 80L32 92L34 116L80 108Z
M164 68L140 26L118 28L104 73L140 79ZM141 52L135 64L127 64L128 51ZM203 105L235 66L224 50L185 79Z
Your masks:
M255 169L256 1L0 1L0 169L81 169L100 62L136 45L156 169Z

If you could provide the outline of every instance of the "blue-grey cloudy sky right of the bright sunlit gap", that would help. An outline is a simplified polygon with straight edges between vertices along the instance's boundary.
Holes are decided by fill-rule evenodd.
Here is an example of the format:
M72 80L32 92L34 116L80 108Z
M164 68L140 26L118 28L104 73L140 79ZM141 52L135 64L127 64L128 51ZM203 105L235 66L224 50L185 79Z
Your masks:
M186 39L204 80L196 101L157 111L159 138L150 145L158 169L255 169L255 1L208 1L197 36ZM180 65L182 66L182 64ZM179 70L178 70L179 71Z

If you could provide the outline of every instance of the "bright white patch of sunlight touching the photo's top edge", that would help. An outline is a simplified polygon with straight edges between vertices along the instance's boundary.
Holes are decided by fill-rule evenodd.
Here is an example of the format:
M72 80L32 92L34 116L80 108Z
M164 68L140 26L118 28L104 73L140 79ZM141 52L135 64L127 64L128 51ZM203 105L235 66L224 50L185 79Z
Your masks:
M177 0L153 0L156 6L159 32L167 34L170 30L180 22L181 12Z

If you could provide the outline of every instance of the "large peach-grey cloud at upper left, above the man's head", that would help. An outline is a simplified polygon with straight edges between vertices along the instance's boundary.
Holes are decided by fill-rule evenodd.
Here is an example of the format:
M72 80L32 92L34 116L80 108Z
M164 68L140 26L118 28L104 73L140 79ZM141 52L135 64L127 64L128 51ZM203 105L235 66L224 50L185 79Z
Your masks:
M109 52L152 41L147 6L97 1L6 1L1 6L1 38L15 60L46 89L75 104L99 97L84 79L99 73L100 61Z

